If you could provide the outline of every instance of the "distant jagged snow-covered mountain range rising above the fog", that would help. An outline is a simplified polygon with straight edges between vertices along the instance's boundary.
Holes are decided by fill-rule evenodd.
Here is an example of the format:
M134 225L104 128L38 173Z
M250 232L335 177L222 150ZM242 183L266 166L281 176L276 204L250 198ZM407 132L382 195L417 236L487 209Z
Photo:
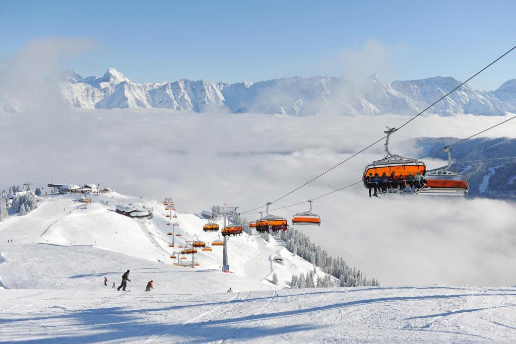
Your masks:
M257 83L227 84L181 79L173 83L137 84L116 69L102 77L83 78L66 71L60 83L64 99L80 108L169 108L181 111L225 111L233 113L313 114L396 113L413 115L460 84L453 77L385 83L373 74L354 85L344 77L285 77ZM467 85L430 112L448 116L456 113L503 115L516 112L515 80L496 91L473 90Z

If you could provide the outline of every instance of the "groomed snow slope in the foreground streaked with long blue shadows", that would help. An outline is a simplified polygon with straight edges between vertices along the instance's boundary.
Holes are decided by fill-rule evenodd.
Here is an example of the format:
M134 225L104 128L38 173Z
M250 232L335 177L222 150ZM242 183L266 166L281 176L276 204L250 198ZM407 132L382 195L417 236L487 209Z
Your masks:
M514 342L516 289L4 290L0 341ZM23 302L20 302L23 300Z

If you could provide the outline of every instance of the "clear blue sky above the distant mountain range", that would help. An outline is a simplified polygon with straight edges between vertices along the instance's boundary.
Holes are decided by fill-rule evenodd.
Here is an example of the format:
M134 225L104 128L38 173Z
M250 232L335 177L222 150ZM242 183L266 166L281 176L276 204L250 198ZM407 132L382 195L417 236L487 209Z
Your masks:
M378 73L387 81L465 79L516 45L514 1L2 2L0 56L31 40L97 44L65 66L136 82L236 82ZM516 52L472 81L516 78Z

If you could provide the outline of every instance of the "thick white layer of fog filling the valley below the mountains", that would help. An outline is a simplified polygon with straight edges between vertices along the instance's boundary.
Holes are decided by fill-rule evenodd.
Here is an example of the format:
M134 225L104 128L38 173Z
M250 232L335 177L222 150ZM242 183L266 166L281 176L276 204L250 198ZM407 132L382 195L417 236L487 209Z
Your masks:
M406 118L293 118L261 114L190 114L158 110L54 110L0 121L2 186L31 181L100 183L126 193L171 196L180 211L223 202L245 211L277 199L383 136ZM420 136L466 137L495 117L423 117L396 133L392 151ZM508 123L486 134L516 134ZM460 146L459 146L460 147ZM460 148L457 149L460 149ZM351 159L278 206L359 181L383 145ZM427 161L438 167L443 161ZM275 205L276 206L276 205ZM277 211L291 217L300 205ZM510 285L515 207L504 201L393 195L369 199L358 185L314 203L318 228L300 228L382 284ZM247 215L253 219L258 215Z

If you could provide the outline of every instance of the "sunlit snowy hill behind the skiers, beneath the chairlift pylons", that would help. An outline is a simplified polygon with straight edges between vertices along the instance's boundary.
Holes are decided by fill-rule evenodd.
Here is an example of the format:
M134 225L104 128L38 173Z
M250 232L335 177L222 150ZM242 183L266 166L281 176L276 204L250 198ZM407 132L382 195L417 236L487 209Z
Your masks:
M205 233L207 221L193 214L175 212L179 223L175 234L168 235L172 226L165 216L168 211L157 201L134 198L117 192L92 195L91 204L77 202L75 195L43 197L40 206L25 216L11 216L0 222L0 283L6 288L69 288L96 284L107 276L117 285L124 269L142 273L144 280L167 288L180 288L188 293L225 291L230 286L241 289L277 289L288 287L292 274L313 270L312 264L288 252L283 242L273 238L266 242L261 236L243 234L229 238L230 270L220 272L222 247L212 252L200 249L195 259L200 266L186 268L185 279L178 280L184 267L173 266L172 251L180 251L199 237L208 245L219 239L217 233ZM117 204L134 204L153 212L152 219L133 219L115 212ZM174 213L172 213L174 214ZM222 220L218 220L222 225ZM169 244L175 241L175 247ZM273 263L271 256L280 253L284 264ZM188 257L191 261L191 256ZM181 261L183 263L183 261ZM279 285L272 284L276 272ZM324 277L324 273L321 273ZM144 281L135 278L135 284ZM206 282L202 282L205 280ZM209 283L208 283L209 282ZM195 285L195 287L191 287Z

